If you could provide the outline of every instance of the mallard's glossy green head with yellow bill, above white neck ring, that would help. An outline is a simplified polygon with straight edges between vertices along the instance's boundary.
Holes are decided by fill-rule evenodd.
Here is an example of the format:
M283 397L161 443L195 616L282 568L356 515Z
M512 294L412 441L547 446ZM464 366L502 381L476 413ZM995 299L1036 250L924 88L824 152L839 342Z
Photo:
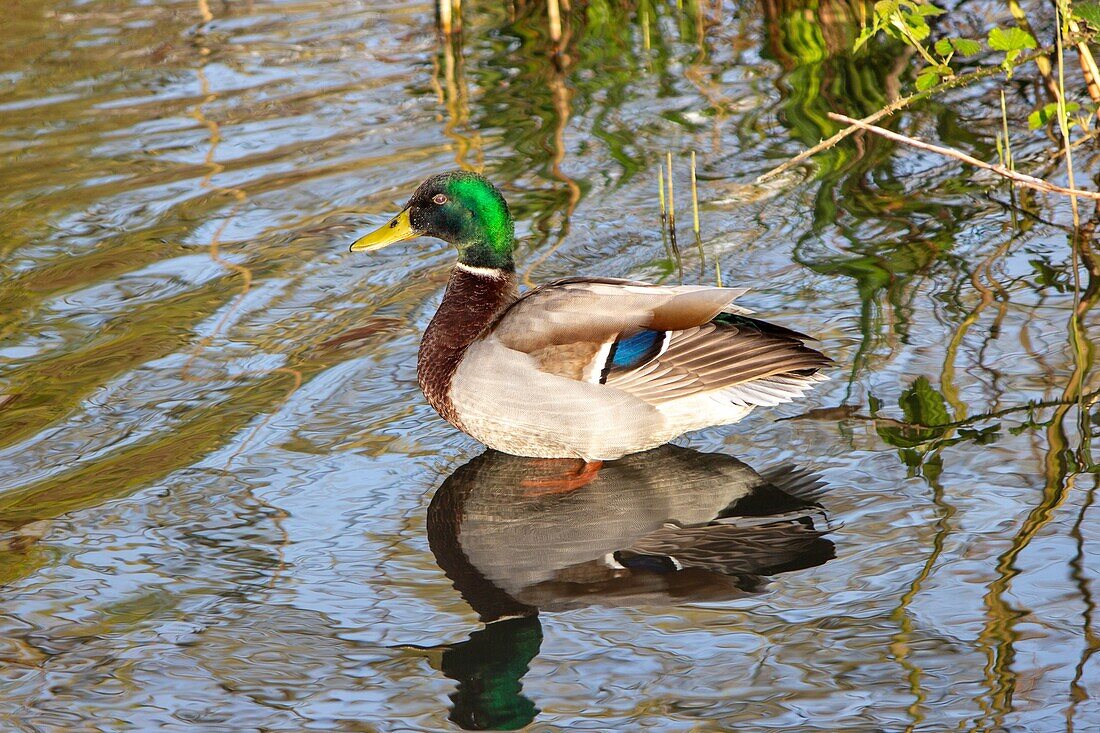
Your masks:
M471 267L514 270L515 225L504 196L484 176L469 171L425 180L402 212L355 241L352 252L381 250L416 237L436 237L459 248Z

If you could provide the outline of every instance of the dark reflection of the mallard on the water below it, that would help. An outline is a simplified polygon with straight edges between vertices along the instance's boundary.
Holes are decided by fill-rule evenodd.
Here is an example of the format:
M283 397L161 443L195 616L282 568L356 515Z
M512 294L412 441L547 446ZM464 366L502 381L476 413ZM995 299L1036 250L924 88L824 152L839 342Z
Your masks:
M539 652L539 611L660 606L760 592L767 577L834 557L822 483L757 473L722 453L662 446L591 464L490 450L428 507L436 561L485 623L442 647L458 681L451 720L515 730L538 713L520 679Z

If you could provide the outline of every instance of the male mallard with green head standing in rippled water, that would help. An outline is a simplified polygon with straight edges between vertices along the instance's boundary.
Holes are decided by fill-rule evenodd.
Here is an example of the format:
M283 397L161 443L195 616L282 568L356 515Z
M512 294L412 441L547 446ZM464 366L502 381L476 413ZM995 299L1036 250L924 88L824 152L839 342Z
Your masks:
M459 250L417 360L443 419L491 448L618 458L790 402L832 363L810 337L750 318L747 288L568 277L522 295L501 192L465 171L432 176L351 245L436 237Z

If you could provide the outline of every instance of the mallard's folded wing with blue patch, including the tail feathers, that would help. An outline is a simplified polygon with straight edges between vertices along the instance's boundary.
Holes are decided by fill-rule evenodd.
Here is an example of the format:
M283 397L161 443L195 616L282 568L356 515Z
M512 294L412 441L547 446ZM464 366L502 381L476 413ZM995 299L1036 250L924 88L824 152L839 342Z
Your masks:
M734 305L745 292L570 278L525 295L494 332L543 372L653 405L708 393L741 406L789 402L832 361L810 337Z

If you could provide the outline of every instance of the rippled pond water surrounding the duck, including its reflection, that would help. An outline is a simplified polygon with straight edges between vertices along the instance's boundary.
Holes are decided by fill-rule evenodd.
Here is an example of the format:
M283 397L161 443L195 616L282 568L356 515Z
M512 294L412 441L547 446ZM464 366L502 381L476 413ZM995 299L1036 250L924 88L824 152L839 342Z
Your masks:
M1093 729L1068 205L871 138L748 185L911 83L848 52L856 0L591 0L558 56L540 3L464 4L443 42L429 2L6 3L4 730ZM998 89L897 124L994 160ZM838 366L546 491L584 477L479 457L416 387L452 254L346 244L484 166L530 282L675 282L667 151L683 278Z

